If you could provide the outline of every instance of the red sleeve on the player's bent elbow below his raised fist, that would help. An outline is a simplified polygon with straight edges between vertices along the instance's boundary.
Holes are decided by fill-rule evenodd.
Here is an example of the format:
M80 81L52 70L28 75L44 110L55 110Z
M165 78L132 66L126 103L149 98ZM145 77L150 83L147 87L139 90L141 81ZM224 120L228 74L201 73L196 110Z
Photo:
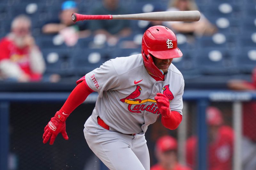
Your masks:
M180 115L177 111L171 111L170 117L166 118L162 116L161 122L164 127L174 130L178 128L180 122L182 120L182 115Z

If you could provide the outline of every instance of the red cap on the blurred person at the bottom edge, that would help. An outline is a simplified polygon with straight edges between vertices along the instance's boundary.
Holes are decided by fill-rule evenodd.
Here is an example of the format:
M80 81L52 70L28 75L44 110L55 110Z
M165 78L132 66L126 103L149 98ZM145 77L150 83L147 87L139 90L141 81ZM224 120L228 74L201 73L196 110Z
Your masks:
M160 152L177 150L177 147L177 140L171 136L163 136L156 141L156 149Z

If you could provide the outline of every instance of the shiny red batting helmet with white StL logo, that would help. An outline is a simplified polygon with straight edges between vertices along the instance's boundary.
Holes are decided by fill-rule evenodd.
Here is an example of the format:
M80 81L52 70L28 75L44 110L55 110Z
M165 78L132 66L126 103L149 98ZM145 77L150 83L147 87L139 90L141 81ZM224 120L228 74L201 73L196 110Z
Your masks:
M181 57L182 53L177 47L177 38L165 26L149 27L142 37L141 54L147 70L155 76L161 77L163 72L154 64L152 56L159 59Z

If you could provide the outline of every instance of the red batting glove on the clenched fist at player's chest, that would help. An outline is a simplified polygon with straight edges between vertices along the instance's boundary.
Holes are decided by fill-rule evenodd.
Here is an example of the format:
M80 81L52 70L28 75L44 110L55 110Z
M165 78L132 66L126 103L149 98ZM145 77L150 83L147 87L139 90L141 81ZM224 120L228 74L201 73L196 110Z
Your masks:
M171 110L170 110L170 102L168 98L162 93L156 93L155 100L161 115L164 118L169 118L171 114Z

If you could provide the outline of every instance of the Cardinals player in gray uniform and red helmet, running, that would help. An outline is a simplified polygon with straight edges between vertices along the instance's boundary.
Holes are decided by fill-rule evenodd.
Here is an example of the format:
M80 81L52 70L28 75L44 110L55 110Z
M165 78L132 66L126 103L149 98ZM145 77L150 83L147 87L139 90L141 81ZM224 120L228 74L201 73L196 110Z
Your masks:
M168 129L176 129L182 120L184 79L172 64L173 58L181 56L169 28L148 28L141 54L111 59L76 82L44 128L43 143L50 139L53 144L58 133L68 140L66 119L90 93L98 92L92 115L84 124L87 144L111 170L149 170L148 125L159 115Z

